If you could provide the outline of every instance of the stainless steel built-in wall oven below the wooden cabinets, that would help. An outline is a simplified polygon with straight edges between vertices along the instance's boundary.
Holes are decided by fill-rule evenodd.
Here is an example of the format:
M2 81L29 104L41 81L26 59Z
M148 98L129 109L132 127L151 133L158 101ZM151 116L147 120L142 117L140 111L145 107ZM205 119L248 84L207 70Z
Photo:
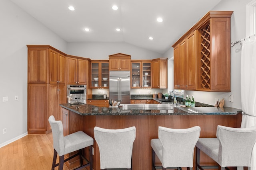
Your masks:
M67 99L70 104L86 104L86 85L67 85Z

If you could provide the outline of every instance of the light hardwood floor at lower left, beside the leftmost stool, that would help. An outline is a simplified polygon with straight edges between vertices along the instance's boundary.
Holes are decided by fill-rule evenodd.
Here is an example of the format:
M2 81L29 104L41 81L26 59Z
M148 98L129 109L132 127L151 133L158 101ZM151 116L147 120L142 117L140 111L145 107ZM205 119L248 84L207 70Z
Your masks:
M27 135L0 148L0 170L50 170L52 158L52 133Z

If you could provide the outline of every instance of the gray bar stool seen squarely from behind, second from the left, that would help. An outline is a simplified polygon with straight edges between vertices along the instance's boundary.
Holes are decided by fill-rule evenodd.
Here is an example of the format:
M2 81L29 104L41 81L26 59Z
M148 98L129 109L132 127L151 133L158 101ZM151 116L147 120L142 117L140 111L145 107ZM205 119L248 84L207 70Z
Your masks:
M136 128L104 129L94 127L94 139L100 150L100 169L132 169L132 147Z

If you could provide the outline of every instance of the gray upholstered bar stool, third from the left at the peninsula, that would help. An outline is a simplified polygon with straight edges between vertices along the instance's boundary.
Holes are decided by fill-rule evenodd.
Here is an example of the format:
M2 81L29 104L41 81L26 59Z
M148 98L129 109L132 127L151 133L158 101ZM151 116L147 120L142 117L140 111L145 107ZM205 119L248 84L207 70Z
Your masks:
M192 170L194 149L200 136L200 127L171 129L158 127L158 139L151 139L152 170L156 170L155 154L162 163L162 169L187 167Z

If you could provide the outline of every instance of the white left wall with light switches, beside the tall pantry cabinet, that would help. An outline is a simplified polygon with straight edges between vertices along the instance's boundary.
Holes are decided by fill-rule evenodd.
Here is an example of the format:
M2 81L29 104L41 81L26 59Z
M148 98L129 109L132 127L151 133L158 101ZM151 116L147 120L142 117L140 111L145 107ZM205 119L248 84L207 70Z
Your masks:
M10 0L0 6L0 147L27 133L27 44L52 45L65 52L66 42ZM8 102L2 98L8 96ZM18 96L18 100L14 97ZM7 128L7 133L2 131Z

